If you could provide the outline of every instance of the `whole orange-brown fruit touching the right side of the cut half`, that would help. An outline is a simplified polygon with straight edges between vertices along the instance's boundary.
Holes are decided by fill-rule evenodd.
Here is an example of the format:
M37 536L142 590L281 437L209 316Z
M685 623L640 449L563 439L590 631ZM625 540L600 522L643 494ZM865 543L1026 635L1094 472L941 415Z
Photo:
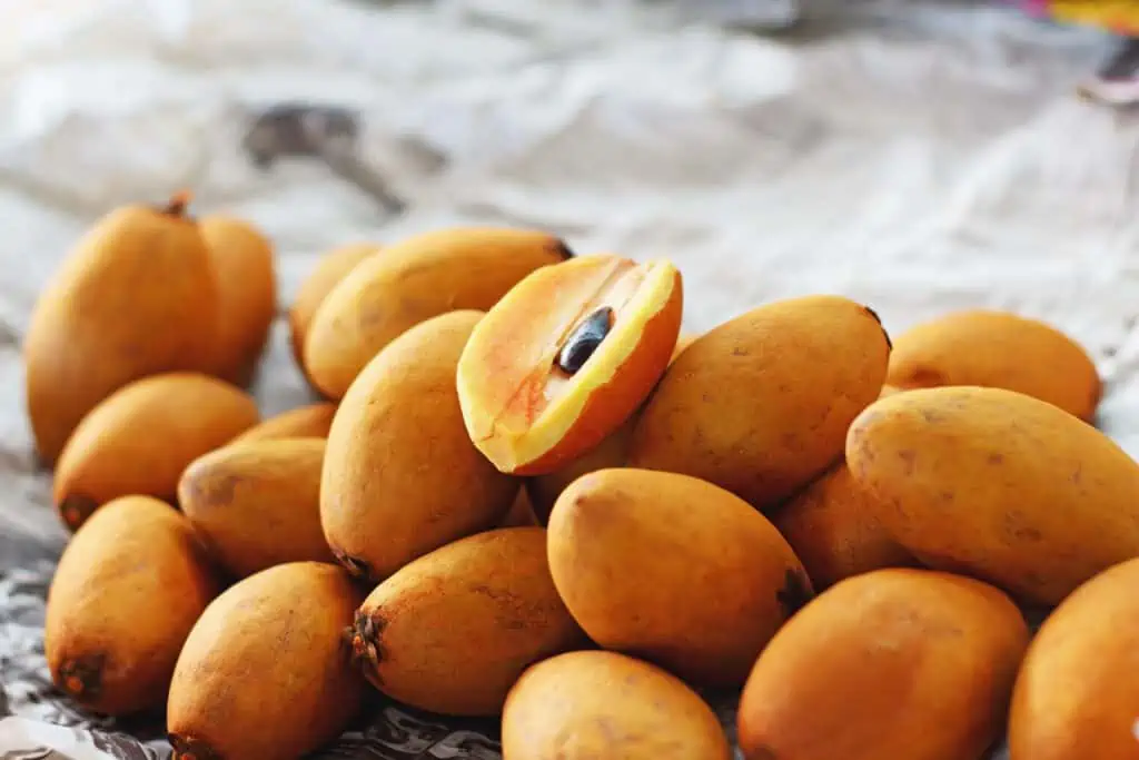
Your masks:
M846 427L878 398L888 354L877 316L847 299L754 309L677 357L640 416L629 465L773 507L842 457Z

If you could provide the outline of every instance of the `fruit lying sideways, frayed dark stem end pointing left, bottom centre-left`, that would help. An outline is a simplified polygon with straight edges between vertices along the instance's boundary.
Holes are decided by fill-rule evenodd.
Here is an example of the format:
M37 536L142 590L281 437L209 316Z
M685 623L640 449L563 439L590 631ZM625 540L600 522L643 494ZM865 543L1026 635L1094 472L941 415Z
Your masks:
M533 662L588 644L546 563L546 531L505 528L419 557L357 613L357 662L384 694L452 716L494 716Z

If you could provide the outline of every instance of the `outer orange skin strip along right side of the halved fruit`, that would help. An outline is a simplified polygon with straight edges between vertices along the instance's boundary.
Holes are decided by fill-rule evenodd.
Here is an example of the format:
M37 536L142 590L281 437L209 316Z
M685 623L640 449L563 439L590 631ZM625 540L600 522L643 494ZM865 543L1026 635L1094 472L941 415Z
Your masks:
M669 300L646 322L637 348L613 373L613 378L593 391L557 444L539 458L516 467L513 475L554 472L599 444L640 408L669 368L677 346L685 305L682 285L678 271L673 275Z

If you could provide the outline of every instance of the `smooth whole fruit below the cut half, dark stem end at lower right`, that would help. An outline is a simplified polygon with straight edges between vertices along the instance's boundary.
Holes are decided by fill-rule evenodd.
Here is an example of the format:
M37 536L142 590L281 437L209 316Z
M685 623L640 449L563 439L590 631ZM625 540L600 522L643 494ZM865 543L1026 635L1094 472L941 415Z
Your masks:
M558 594L592 640L689 684L743 685L811 597L803 566L767 517L687 475L580 477L550 514L548 556Z

